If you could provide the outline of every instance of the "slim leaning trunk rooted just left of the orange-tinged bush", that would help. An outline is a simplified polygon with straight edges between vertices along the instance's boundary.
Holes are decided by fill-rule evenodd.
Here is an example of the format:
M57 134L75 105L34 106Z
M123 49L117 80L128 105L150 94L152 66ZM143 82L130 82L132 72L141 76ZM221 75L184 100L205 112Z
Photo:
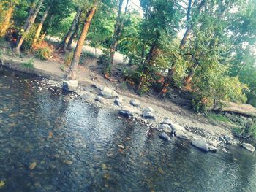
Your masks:
M29 15L29 17L30 17L29 23L27 24L26 29L24 30L24 34L22 34L20 36L20 38L18 39L18 42L17 42L17 46L16 46L16 52L17 53L20 53L20 47L23 45L24 39L26 37L26 34L29 33L31 27L33 26L34 20L36 20L37 14L38 14L40 8L42 7L42 3L43 2L44 2L44 0L40 0L39 4L37 5L37 9L34 10L34 13L31 15L31 17ZM32 9L34 9L34 8L32 8Z

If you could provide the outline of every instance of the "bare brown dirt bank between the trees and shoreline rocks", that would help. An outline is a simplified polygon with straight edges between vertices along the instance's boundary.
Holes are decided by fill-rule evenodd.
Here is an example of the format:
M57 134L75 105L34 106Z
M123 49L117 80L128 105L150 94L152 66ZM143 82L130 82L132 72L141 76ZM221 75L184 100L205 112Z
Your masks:
M4 58L4 64L10 64L12 66L23 66L31 60L29 56L23 56L20 58L18 55L12 55L10 53L9 47L0 46L1 58ZM94 51L93 48L84 46L84 53ZM100 53L97 50L97 53ZM100 55L100 54L99 54ZM68 66L63 65L64 55L56 55L50 58L48 61L42 61L37 58L33 58L33 69L29 69L30 72L36 73L39 71L42 75L48 78L54 77L53 79L58 79L59 82L64 80L67 74ZM124 61L124 55L116 54L115 58L115 69L113 75L113 82L106 80L102 73L100 72L100 66L97 64L97 56L93 58L89 56L89 59L82 60L82 63L78 69L78 82L84 90L90 93L91 102L98 104L94 101L95 97L99 93L96 87L108 87L115 90L118 95L123 99L125 105L129 105L130 99L138 99L141 102L140 108L152 107L155 110L157 116L156 124L161 122L164 117L169 117L174 123L178 123L185 128L194 128L194 130L203 131L203 135L211 138L217 139L219 136L228 135L233 138L231 128L233 124L231 123L220 123L214 120L210 120L202 114L196 114L186 107L181 107L172 101L161 101L157 99L157 94L148 93L144 96L138 96L129 86L125 83L118 82L118 74L121 74L121 68L128 66ZM10 67L12 68L12 67ZM15 67L15 69L18 69ZM88 98L87 98L88 99ZM118 107L113 107L113 100L104 99L102 102L104 107L109 107L110 109L118 110Z

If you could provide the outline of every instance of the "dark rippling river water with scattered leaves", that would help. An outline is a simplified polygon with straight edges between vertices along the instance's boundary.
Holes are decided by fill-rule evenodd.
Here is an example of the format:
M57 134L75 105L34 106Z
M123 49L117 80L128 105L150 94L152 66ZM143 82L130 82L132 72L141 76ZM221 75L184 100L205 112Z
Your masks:
M116 112L42 87L0 70L0 191L256 191L255 153L147 137Z

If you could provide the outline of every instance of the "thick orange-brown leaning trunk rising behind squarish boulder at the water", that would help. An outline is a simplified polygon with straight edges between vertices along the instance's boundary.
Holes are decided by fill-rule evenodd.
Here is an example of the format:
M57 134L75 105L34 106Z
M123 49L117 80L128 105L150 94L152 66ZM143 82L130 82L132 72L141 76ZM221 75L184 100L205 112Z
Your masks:
M75 80L76 79L76 72L77 72L77 69L78 69L79 61L80 61L80 55L81 55L82 50L83 50L83 44L86 40L88 31L89 31L89 27L91 25L91 20L94 17L94 13L95 13L96 9L97 9L97 1L94 1L94 5L93 5L93 7L91 7L91 9L90 9L90 11L89 11L89 13L86 17L86 22L83 25L82 33L80 34L77 46L75 47L75 53L74 53L74 56L72 58L71 65L69 67L69 73L67 75L67 78L69 80Z

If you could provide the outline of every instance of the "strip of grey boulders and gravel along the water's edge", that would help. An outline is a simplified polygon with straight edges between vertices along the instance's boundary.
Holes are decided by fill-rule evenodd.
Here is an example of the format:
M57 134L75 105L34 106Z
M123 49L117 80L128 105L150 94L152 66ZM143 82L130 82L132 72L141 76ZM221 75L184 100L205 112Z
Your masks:
M203 130L202 128L193 127L189 124L179 124L160 107L150 106L138 99L118 94L113 88L97 85L78 85L77 81L64 81L63 77L54 75L39 69L25 69L20 64L8 62L1 65L6 69L23 72L45 78L43 84L51 85L58 88L64 88L66 91L72 91L70 98L79 96L83 101L96 105L97 107L116 110L117 118L130 118L138 120L141 124L148 126L146 134L150 135L151 131L159 131L159 138L170 141L171 137L188 140L192 146L203 150L204 152L214 152L222 150L227 152L228 145L241 145L246 150L255 151L255 147L248 143L241 143L234 138L231 132L229 134L214 133Z

